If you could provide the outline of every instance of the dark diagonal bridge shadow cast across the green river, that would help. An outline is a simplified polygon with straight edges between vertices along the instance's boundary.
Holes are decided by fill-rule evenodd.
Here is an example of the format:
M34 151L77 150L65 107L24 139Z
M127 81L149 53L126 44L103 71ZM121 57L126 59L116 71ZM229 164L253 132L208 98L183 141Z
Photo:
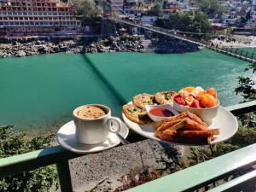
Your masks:
M103 75L102 72L95 66L95 64L89 59L88 55L84 54L82 55L84 58L84 61L88 64L91 71L102 81L102 84L105 85L105 87L109 90L110 94L113 95L116 98L116 101L119 102L119 105L124 105L127 101L123 96L119 94L119 91L116 90L116 88L109 82L107 77ZM117 79L118 80L118 79Z

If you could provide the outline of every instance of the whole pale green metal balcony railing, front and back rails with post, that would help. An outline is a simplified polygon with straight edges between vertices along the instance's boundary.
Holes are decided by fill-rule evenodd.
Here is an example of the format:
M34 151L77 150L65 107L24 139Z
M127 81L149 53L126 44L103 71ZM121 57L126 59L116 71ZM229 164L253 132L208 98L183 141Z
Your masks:
M256 101L241 103L227 107L235 115L256 111ZM74 154L61 146L44 148L32 151L27 154L19 154L0 159L0 177L15 175L20 172L27 172L43 166L55 164L61 184L62 192L73 191L68 160L79 157L83 154ZM153 182L143 184L129 192L169 192L169 191L191 191L201 186L206 186L218 180L219 177L231 174L246 166L256 163L256 144L246 148L238 149L229 154L219 156L213 160L191 166L166 177L161 177ZM239 189L247 183L256 183L256 172L249 172L241 177L231 180L228 183L218 186L212 191L229 191ZM232 191L232 190L230 190ZM234 191L234 190L233 190Z

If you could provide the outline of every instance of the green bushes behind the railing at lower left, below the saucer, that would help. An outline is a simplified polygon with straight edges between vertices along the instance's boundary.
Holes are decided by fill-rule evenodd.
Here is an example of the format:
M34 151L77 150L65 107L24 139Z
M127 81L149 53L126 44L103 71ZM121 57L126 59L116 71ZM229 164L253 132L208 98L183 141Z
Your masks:
M0 127L0 158L46 148L55 137L55 135L49 135L31 139L25 133L12 129L12 125ZM51 189L53 184L57 184L56 181L55 166L46 166L32 172L22 172L14 176L0 178L0 191L46 192Z

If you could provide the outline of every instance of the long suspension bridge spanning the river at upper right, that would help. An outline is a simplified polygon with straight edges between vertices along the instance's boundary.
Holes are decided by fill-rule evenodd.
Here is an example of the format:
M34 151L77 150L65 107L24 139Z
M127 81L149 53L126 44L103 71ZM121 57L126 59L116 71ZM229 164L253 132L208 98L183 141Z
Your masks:
M107 1L105 1L106 3L108 3ZM114 9L115 11L117 11L117 13L119 15L128 15L127 13L125 13L124 10L117 10L112 4L108 3L109 6L111 6L112 9ZM169 38L175 38L181 41L185 41L185 42L189 42L191 44L196 44L200 47L203 48L207 48L207 49L211 49L213 51L217 51L218 53L222 53L224 55L230 55L233 57L236 57L237 59L240 59L242 61L248 61L248 62L256 62L256 55L254 55L254 52L249 55L248 52L244 55L243 54L243 50L239 51L238 49L234 49L232 47L220 47L219 45L212 45L209 44L207 42L203 42L200 41L198 39L195 38L191 38L188 37L187 34L197 34L197 35L201 35L201 34L205 34L205 33L195 33L195 32L180 32L180 31L176 31L176 30L169 30L166 28L162 28L162 27L158 27L158 26L148 26L148 25L144 25L141 20L124 20L121 19L122 17L117 17L117 16L113 16L114 14L111 14L111 16L108 16L106 19L107 20L112 20L116 23L121 23L123 25L126 26L136 26L137 28L141 28L144 30L148 30L151 32L155 32L157 34L160 35L164 35L166 37ZM256 49L256 48L255 48ZM240 52L240 53L239 53Z

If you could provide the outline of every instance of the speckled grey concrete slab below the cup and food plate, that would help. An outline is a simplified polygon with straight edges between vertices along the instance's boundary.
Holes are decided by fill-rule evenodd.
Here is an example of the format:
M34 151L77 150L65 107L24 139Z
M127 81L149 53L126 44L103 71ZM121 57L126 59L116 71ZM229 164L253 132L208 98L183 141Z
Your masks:
M122 185L118 179L129 172L164 169L166 163L178 162L182 155L183 146L145 140L81 156L69 160L73 190L112 191Z

